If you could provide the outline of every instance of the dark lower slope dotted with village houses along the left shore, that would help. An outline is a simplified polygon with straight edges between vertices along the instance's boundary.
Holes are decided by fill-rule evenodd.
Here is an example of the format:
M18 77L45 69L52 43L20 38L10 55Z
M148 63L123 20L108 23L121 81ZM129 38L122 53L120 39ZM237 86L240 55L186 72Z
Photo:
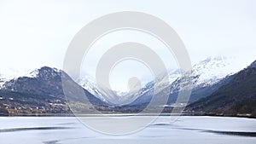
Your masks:
M0 115L48 115L56 113L71 113L66 100L50 95L0 90Z

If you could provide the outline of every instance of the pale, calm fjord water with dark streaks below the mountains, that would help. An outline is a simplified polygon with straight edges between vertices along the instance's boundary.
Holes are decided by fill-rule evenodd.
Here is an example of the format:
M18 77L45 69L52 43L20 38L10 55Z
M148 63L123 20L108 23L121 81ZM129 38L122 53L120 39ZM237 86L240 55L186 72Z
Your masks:
M254 144L256 119L161 116L131 135L103 135L73 117L0 117L2 144ZM125 125L124 125L125 126Z

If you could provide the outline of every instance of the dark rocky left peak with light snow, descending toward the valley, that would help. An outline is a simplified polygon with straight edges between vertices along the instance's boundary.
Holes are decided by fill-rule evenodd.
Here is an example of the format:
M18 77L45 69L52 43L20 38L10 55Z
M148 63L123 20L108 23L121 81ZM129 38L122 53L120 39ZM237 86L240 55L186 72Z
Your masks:
M35 94L35 95L49 95L56 99L65 100L61 83L61 76L67 78L69 89L75 92L75 89L79 89L79 84L76 84L72 78L70 78L65 72L44 66L26 77L15 78L9 80L3 84L3 90L14 91L24 94ZM91 95L90 92L84 89L84 93L88 97L89 101L94 105L104 105L105 103ZM75 98L77 101L82 98Z

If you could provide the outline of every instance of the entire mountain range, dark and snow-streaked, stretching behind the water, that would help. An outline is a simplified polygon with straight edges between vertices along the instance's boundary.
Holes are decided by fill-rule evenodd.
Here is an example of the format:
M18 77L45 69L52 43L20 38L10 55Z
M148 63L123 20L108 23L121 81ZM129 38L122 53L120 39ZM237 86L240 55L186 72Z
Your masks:
M157 96L171 91L166 105L172 106L177 101L180 82L189 79L192 93L186 112L254 116L252 108L255 109L256 101L256 61L240 72L232 69L232 65L234 63L229 60L214 57L193 66L189 78L182 77L181 70L169 72L168 76L159 76L157 78L160 78L161 84ZM154 94L153 81L146 84L139 93L120 94L110 89L98 89L95 80L89 76L75 82L67 73L44 66L20 78L8 80L0 75L0 115L1 112L11 115L71 112L62 89L63 74L68 79L71 93L76 89L84 89L90 102L90 105L84 105L74 95L73 105L77 106L75 111L84 107L90 111L95 107L102 112L140 112L148 106ZM105 99L111 95L138 95L138 98L129 105L117 107Z

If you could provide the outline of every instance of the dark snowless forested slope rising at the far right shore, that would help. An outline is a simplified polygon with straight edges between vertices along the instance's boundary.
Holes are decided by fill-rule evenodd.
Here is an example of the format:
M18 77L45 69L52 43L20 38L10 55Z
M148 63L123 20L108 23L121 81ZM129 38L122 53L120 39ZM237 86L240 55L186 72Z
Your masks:
M236 111L235 113L238 114L238 107L245 107L250 102L256 101L255 82L256 68L253 63L241 72L236 73L228 84L219 88L212 95L192 103L188 109L190 111L212 113L234 113ZM254 105L252 106L254 107Z

